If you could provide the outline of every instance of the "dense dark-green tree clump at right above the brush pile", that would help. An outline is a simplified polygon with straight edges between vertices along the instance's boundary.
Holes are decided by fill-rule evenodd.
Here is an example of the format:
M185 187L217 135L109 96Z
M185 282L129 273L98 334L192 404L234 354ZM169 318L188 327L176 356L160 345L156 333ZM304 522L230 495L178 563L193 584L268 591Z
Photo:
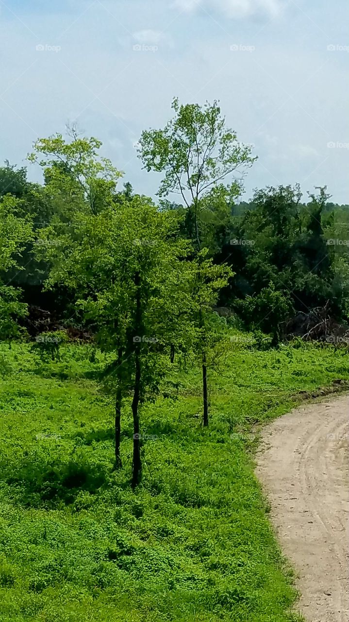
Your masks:
M335 216L325 210L328 199L326 188L310 194L306 204L299 185L256 190L253 209L235 219L232 237L240 245L230 247L227 259L238 275L230 300L232 294L242 300L259 295L272 282L289 292L296 312L327 304L334 317L346 320L348 246L345 239L337 244L345 236L338 228L335 234Z

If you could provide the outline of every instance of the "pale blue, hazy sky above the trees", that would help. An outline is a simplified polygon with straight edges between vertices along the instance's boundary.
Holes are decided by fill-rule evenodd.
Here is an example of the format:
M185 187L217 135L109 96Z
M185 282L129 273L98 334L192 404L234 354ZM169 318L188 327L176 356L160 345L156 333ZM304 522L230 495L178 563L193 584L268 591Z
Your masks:
M0 162L25 165L35 139L76 123L154 197L142 130L174 96L219 100L258 156L243 200L299 182L349 203L348 23L345 0L0 0Z

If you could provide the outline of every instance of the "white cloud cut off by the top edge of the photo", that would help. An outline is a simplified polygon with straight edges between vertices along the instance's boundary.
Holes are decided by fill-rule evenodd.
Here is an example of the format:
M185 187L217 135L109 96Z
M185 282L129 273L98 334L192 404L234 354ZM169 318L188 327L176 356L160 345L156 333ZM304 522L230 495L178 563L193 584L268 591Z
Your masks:
M193 12L202 6L209 10L218 9L230 18L250 17L260 12L275 17L281 4L281 0L174 0L174 6L181 11Z

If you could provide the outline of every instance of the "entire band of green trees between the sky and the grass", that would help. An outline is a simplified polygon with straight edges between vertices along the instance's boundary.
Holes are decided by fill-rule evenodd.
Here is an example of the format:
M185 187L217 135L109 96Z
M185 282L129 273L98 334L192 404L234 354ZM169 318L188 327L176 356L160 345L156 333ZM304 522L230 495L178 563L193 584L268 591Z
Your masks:
M317 308L326 326L349 316L348 206L329 203L325 186L307 202L298 185L241 202L236 175L253 165L251 147L226 128L217 102L175 99L172 108L165 128L144 131L138 144L145 169L162 177L156 203L130 183L120 190L122 173L99 156L101 142L75 128L35 143L29 161L42 167L42 185L25 168L0 169L0 338L37 337L52 328L45 312L93 335L111 356L104 380L115 394L116 468L132 398L134 486L140 408L178 354L201 365L209 424L207 375L224 340L212 308L270 334L272 345L299 314L314 326Z

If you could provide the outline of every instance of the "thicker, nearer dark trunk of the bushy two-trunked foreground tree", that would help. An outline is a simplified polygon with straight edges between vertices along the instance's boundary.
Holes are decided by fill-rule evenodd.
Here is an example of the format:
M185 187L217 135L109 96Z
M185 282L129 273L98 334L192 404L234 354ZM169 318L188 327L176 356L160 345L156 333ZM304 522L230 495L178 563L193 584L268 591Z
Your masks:
M135 272L134 283L136 286L136 313L135 313L135 334L142 334L142 309L140 305L140 274ZM134 453L132 460L132 488L140 483L142 476L142 462L140 460L140 427L139 427L139 402L141 393L141 371L140 371L140 344L135 345L135 384L134 397L132 399L132 415L134 418Z

